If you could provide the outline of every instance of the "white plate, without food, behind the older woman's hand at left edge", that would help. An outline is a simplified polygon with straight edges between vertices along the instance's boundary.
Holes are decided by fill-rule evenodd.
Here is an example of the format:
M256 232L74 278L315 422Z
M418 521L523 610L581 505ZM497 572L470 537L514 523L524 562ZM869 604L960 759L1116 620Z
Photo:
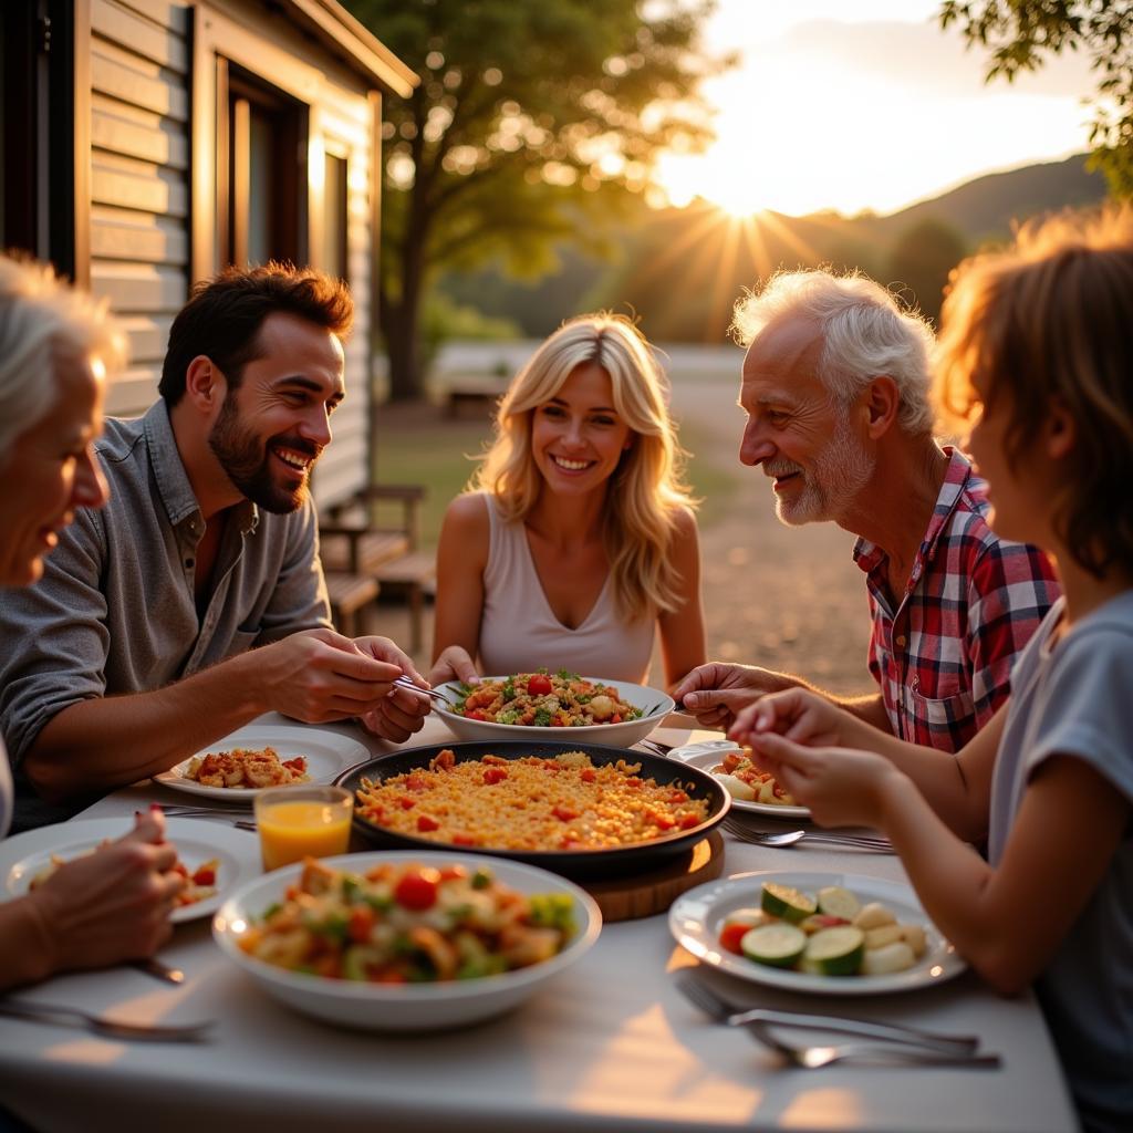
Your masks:
M36 874L51 864L52 855L63 861L80 858L108 840L117 841L133 826L129 818L80 818L42 826L0 842L0 900L10 901L27 893ZM259 841L255 834L190 818L169 818L165 829L190 874L206 861L218 859L216 892L196 904L174 909L169 918L174 923L211 915L229 893L261 872Z

